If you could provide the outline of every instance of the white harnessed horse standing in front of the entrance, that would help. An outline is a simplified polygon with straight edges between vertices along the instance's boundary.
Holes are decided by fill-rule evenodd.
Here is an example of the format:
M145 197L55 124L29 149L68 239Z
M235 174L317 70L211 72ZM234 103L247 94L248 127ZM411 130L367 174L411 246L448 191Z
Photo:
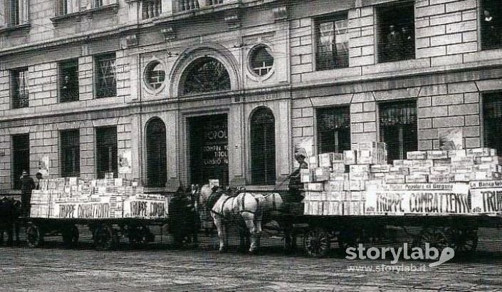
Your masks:
M229 223L244 220L244 224L249 231L250 246L249 252L253 253L258 249L261 236L261 220L263 212L279 210L282 206L282 199L279 194L252 194L240 192L236 196L231 196L225 192L213 192L209 184L204 184L199 190L200 203L210 209L211 217L218 231L219 251L226 250L228 236L226 229ZM218 196L214 202L210 202L211 194ZM241 236L241 244L243 237ZM227 244L228 245L228 244Z

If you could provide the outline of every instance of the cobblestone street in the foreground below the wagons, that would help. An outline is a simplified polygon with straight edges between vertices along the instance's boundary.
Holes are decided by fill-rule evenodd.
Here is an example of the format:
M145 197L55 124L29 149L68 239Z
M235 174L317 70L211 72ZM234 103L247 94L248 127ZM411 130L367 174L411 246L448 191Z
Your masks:
M211 246L214 239L204 237L194 250L152 244L94 251L88 238L77 249L53 241L41 249L3 247L0 291L502 291L501 241L494 237L481 239L481 251L436 268L399 261L427 266L400 273L349 271L389 261L348 261L337 253L326 259L285 256L271 246L255 256L219 254Z

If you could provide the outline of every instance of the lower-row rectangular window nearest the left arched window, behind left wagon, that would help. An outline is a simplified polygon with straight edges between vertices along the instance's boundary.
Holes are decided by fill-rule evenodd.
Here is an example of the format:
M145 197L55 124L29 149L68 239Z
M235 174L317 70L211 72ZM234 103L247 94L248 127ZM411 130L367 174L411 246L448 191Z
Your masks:
M117 127L96 128L96 170L98 179L105 178L107 172L118 177Z

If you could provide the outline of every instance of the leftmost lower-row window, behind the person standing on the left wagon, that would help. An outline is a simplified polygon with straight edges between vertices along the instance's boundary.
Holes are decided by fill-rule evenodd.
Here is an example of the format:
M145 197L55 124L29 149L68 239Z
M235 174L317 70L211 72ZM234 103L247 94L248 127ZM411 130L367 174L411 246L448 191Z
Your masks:
M12 182L14 189L21 189L23 170L30 171L30 135L12 135Z

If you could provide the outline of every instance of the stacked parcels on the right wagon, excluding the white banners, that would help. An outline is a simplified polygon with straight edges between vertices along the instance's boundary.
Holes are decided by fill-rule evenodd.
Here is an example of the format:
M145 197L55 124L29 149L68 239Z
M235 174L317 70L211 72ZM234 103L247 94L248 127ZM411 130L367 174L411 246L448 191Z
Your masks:
M304 214L309 215L364 215L368 187L465 184L498 180L502 173L502 157L489 148L407 152L407 160L388 165L385 143L362 142L355 150L323 153L308 162L309 169L301 170L301 181Z

